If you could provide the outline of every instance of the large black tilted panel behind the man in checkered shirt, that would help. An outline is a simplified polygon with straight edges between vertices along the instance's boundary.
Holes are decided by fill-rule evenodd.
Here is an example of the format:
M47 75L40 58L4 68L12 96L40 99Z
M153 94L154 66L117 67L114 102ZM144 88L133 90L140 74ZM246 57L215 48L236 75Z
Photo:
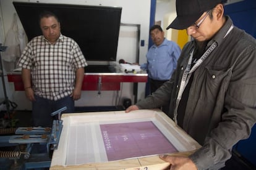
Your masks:
M79 44L85 59L116 61L121 7L13 2L30 41L41 35L38 17L43 10L59 17L61 33Z

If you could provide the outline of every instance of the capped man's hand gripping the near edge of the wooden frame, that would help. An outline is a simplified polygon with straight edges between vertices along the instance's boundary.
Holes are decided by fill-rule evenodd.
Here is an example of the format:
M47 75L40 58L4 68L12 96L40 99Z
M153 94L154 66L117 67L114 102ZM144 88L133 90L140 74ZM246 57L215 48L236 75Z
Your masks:
M161 160L171 164L170 170L197 170L197 166L190 158L182 156L160 155Z

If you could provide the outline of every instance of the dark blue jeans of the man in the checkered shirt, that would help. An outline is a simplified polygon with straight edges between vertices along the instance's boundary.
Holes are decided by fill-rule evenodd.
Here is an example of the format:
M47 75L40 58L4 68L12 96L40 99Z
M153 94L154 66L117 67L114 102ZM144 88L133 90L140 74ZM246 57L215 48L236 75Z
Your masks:
M51 113L62 107L67 107L62 113L73 113L75 102L72 97L67 96L54 101L35 95L35 101L32 102L33 126L52 127L53 119L57 119L58 115L53 117Z

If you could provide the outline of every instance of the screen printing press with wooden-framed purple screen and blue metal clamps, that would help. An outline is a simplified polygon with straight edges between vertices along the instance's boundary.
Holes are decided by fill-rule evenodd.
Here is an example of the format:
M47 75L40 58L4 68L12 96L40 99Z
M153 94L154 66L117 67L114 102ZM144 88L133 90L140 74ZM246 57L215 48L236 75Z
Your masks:
M60 115L62 110L54 111L52 115ZM27 131L28 128L19 127L19 131ZM23 169L165 169L169 163L158 155L188 156L200 148L194 139L158 109L130 113L64 113L61 119L54 120L48 132L38 134L35 131L43 127L30 128L33 132L30 131L28 138L24 137L27 134L24 132L23 136L9 137L9 143L29 144L23 152L9 153L16 154L11 158L15 159L14 164L25 164L20 166ZM36 139L38 135L41 137ZM36 143L46 145L47 158L41 156L31 162L33 154L29 146Z

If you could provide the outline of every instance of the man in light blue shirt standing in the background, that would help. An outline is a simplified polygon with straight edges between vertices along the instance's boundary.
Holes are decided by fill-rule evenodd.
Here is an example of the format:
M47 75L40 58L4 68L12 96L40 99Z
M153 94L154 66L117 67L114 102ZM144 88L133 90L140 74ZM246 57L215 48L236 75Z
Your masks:
M147 63L142 64L140 68L148 71L152 94L173 75L181 49L174 41L164 38L164 31L160 25L153 25L150 28L150 37L154 45L148 50ZM163 111L168 113L168 106L163 106Z

